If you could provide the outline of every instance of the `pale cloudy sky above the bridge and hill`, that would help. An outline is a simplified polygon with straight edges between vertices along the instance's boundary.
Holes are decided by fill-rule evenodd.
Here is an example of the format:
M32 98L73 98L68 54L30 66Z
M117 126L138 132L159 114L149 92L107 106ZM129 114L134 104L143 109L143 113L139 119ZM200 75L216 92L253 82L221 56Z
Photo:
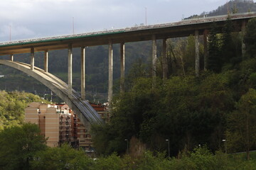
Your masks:
M180 21L226 0L0 0L0 42ZM146 19L147 18L147 19Z

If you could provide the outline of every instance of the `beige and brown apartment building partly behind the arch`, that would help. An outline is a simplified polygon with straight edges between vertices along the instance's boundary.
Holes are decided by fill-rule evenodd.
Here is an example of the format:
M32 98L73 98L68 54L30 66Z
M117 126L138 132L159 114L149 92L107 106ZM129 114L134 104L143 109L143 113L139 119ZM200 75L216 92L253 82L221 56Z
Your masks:
M90 104L108 122L106 106ZM83 147L87 152L94 149L89 130L66 104L30 103L25 108L25 122L39 126L41 134L48 138L49 147L69 143L73 147Z

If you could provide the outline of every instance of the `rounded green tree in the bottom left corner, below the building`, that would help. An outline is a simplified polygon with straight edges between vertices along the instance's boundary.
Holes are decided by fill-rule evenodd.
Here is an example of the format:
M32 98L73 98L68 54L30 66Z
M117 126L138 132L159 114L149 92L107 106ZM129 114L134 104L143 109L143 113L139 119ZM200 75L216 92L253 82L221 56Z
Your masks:
M30 169L36 152L46 149L38 125L24 123L0 132L0 169Z

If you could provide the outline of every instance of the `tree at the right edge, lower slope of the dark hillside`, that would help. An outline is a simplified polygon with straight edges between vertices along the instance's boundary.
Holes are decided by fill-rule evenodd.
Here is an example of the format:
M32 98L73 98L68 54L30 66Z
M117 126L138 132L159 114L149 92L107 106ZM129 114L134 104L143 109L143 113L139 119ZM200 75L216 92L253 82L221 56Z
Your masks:
M256 140L256 90L249 89L235 107L228 118L227 141L234 152L244 148L250 159L250 148Z

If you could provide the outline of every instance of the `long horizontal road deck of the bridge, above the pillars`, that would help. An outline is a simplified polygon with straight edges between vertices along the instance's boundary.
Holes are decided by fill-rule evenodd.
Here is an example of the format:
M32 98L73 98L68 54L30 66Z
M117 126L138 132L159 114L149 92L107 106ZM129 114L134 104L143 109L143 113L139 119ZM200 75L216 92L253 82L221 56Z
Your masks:
M238 31L242 25L242 21L247 21L250 18L255 17L256 13L254 12L230 15L230 19L238 25ZM193 35L195 30L199 30L199 33L202 34L203 30L210 29L211 23L213 22L217 23L217 26L221 28L227 18L228 16L224 15L183 20L176 23L156 24L152 26L139 26L117 30L104 30L94 33L2 42L0 43L0 55L28 53L30 52L31 47L34 47L37 52L66 49L68 48L68 44L72 44L73 47L87 47L107 45L110 40L112 40L112 43L144 41L151 40L152 35L156 35L156 39L178 38Z

